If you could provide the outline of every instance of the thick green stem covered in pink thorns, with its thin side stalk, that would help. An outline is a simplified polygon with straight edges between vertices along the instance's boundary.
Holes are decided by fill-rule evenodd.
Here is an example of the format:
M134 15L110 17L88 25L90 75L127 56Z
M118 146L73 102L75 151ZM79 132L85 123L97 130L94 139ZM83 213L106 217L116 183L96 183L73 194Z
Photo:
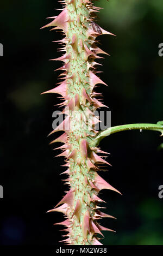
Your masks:
M63 9L58 16L52 17L53 21L45 27L62 29L65 37L59 41L63 46L60 51L64 55L54 59L62 61L64 65L58 70L63 70L59 85L45 93L58 93L64 100L65 120L53 130L53 133L62 130L64 133L52 141L62 142L59 156L66 158L68 175L65 180L70 190L64 198L49 212L62 212L66 219L61 224L66 227L68 238L64 239L68 245L101 245L98 234L102 230L110 230L99 224L102 217L112 216L101 212L99 203L103 202L98 197L102 189L111 189L118 192L101 176L99 170L106 170L108 162L104 160L105 152L97 145L109 133L125 130L124 127L112 128L98 133L95 125L99 122L95 117L95 110L104 105L99 101L101 94L95 92L97 84L105 83L96 75L95 59L101 53L107 54L97 46L96 38L102 34L111 34L95 23L95 13L100 9L92 5L89 0L60 1ZM149 124L162 133L162 123ZM135 127L136 126L136 127ZM147 129L145 125L133 125L126 129ZM154 127L155 126L155 127ZM102 154L102 156L99 156ZM120 192L118 192L120 193ZM112 230L110 230L112 231Z

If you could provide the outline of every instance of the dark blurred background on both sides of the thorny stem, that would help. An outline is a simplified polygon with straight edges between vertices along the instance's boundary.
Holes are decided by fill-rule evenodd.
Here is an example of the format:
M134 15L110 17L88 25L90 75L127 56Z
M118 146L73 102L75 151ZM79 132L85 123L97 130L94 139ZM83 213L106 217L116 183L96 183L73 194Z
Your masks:
M112 126L161 121L162 0L103 0L96 5L104 8L97 23L117 35L100 38L111 57L101 61L101 78L109 87L97 89L111 110ZM52 43L61 39L60 33L39 29L47 23L45 17L59 13L54 8L61 5L52 0L1 2L1 245L57 245L64 234L62 227L53 227L64 219L61 213L46 213L66 189L61 181L65 176L60 176L64 159L53 158L53 147L48 146L53 138L47 138L53 105L60 102L55 95L40 96L53 88L59 74L53 70L61 65L48 61L60 56ZM161 143L159 133L137 130L101 142L112 164L102 176L123 194L102 191L104 211L117 217L102 221L117 231L105 232L105 245L163 245Z

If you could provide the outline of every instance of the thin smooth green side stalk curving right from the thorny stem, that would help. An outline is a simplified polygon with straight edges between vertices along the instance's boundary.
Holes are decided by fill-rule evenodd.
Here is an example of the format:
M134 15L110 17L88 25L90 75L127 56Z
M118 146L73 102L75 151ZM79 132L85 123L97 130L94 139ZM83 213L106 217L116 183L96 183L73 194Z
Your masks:
M96 140L93 141L92 146L98 146L99 142L113 133L122 132L123 130L155 130L161 133L163 136L163 121L160 121L156 124L153 123L132 123L132 124L124 124L122 126L114 126L110 127L106 130L102 130L96 136Z

